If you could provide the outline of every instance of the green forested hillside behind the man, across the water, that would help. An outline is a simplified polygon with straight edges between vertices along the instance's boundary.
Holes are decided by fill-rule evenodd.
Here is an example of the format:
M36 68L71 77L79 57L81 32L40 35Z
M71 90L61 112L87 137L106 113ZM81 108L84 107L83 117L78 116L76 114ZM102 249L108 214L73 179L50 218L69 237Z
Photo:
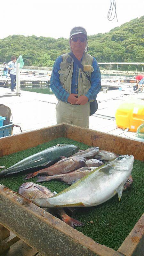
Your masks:
M113 28L105 34L88 36L88 53L98 62L144 61L144 16ZM69 28L71 29L71 28ZM0 39L0 62L23 57L24 65L52 67L54 60L69 52L68 39L13 35Z

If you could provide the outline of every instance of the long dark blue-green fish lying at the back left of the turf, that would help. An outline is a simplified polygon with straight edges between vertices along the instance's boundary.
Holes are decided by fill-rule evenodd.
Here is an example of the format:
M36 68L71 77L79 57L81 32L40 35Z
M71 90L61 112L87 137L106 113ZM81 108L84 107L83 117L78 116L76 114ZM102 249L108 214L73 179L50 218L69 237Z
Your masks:
M34 172L60 160L60 156L71 156L78 151L78 147L72 144L58 144L51 148L44 149L34 155L28 156L20 162L0 172L0 178L7 175L27 171Z

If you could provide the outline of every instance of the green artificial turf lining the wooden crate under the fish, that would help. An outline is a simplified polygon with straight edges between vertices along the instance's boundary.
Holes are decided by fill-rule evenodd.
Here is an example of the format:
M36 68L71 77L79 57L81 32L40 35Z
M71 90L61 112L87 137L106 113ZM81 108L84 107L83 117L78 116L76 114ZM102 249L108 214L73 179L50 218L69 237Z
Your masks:
M35 148L3 156L0 158L0 165L8 168L27 156L60 143L75 144L80 149L89 148L89 146L75 140L59 138ZM84 222L85 226L77 227L76 229L91 237L97 243L117 250L143 213L143 170L143 162L134 160L132 170L133 183L129 190L123 192L120 202L116 195L104 204L79 208L73 217ZM15 177L1 178L0 184L18 191L22 183L36 182L37 180L37 177L29 180L24 180L24 177L24 174L19 174ZM37 183L56 192L68 187L67 184L58 180Z

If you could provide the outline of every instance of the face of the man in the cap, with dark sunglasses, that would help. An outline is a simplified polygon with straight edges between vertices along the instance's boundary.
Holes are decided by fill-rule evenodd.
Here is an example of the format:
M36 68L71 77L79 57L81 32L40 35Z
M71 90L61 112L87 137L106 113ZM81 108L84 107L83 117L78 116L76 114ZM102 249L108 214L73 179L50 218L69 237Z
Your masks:
M70 39L70 46L71 46L72 52L84 52L85 46L86 46L86 36L81 33L72 36Z

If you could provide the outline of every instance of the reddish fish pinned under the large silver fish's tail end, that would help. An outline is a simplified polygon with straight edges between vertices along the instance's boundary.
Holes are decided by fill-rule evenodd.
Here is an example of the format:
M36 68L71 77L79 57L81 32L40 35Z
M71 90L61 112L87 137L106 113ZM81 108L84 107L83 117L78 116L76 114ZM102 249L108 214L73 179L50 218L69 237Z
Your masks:
M19 194L28 199L45 198L54 195L48 188L33 182L23 183L19 188ZM46 208L46 211L59 217L62 221L73 228L76 226L84 226L83 222L71 218L62 208Z

